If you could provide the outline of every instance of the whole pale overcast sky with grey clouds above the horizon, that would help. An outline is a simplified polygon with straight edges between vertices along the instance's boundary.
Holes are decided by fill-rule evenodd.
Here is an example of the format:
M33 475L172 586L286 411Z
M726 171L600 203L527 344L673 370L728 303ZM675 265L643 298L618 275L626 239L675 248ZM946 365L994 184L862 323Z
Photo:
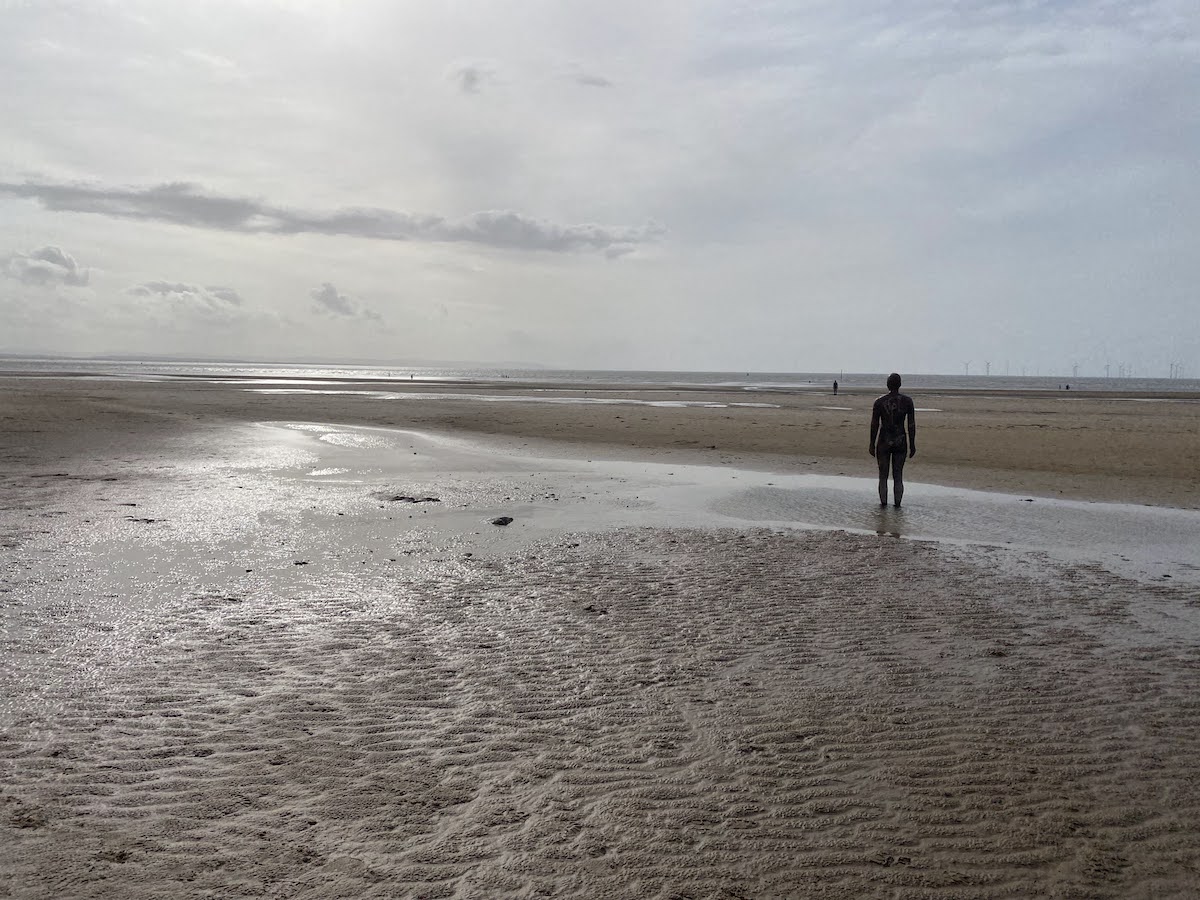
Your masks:
M1200 377L1198 84L1195 0L0 2L0 353Z

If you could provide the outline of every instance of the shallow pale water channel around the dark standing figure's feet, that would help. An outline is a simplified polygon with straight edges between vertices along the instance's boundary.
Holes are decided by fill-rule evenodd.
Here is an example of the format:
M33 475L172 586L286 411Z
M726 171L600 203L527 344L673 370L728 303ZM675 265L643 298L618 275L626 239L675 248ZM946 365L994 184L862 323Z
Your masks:
M728 467L538 458L448 437L332 425L258 426L271 442L307 448L292 474L326 482L380 478L539 476L540 497L496 505L527 536L622 526L844 529L964 546L1036 551L1127 577L1200 584L1200 512L1084 503L906 482L904 509L878 506L875 480ZM546 499L550 498L550 499ZM589 498L599 503L580 503ZM493 499L492 503L496 503ZM422 521L478 530L479 509L422 510ZM511 540L511 539L508 539Z

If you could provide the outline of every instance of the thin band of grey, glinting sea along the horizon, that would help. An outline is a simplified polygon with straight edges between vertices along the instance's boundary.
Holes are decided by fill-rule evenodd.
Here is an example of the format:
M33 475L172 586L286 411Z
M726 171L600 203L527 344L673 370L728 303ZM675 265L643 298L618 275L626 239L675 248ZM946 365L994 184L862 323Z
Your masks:
M658 389L829 390L839 386L886 390L886 373L863 372L666 372L632 370L503 368L494 366L352 366L296 362L211 362L187 360L0 358L0 374L107 377L136 380L262 379L268 382L364 380L425 384L630 385ZM1196 378L1067 378L1063 376L905 374L905 390L1072 390L1132 394L1200 392Z

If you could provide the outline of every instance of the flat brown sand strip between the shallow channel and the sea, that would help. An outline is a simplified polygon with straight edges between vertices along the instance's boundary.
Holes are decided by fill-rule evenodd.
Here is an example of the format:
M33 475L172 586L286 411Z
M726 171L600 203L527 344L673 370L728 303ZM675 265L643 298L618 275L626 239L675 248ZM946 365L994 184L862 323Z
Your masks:
M55 430L116 409L156 427L337 421L494 436L550 455L576 455L578 445L592 445L607 458L668 454L701 464L842 475L864 470L870 475L868 424L877 396L845 390L835 397L828 391L632 391L515 383L218 384L11 377L0 378L0 389L5 414L18 424L18 433L22 424ZM338 392L254 392L298 389ZM406 400L379 400L378 394ZM494 402L454 398L463 395L491 396ZM1037 497L1200 509L1194 450L1200 442L1198 396L1078 391L913 396L919 410L914 479ZM677 406L684 403L712 406ZM71 431L65 428L64 439L74 439Z

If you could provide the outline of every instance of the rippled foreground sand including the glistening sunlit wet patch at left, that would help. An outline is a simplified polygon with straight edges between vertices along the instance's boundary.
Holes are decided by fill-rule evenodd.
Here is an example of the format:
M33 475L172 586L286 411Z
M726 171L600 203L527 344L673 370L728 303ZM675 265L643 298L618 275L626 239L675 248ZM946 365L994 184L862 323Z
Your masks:
M0 895L1200 890L1194 586L149 440L5 480Z

